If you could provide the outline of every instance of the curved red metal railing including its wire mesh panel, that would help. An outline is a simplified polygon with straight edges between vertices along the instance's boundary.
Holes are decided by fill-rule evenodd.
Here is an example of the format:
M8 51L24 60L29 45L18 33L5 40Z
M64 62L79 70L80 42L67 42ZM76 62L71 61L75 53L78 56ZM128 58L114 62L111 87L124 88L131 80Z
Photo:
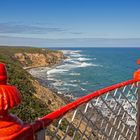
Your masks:
M32 124L18 123L20 129L1 140L136 140L139 138L139 113L136 117L139 77L137 71L134 79L81 97Z

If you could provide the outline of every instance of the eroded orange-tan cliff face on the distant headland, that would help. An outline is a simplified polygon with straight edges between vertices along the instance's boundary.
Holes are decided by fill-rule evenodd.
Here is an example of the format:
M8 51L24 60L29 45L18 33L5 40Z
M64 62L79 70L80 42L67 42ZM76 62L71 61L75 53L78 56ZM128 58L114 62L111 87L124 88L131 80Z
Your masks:
M65 56L60 51L52 51L48 53L15 53L14 57L24 67L46 67L58 64Z

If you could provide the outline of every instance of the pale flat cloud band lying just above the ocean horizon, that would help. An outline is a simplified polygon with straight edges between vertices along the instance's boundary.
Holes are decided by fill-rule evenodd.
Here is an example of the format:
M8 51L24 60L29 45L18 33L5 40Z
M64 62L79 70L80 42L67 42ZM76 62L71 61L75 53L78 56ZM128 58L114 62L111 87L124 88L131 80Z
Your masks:
M140 47L140 38L41 39L41 38L0 36L0 45L37 46L37 47Z

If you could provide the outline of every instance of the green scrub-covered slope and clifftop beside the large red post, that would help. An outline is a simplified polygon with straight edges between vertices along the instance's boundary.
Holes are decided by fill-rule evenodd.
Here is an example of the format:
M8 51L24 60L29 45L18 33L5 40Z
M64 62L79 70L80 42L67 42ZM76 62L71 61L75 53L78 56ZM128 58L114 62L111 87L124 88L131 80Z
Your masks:
M21 64L13 58L17 52L42 52L38 48L9 48L0 47L0 62L7 66L9 83L16 85L22 95L22 104L11 112L20 117L23 121L31 121L50 112L47 104L34 96L35 89L30 81L33 77L28 74Z

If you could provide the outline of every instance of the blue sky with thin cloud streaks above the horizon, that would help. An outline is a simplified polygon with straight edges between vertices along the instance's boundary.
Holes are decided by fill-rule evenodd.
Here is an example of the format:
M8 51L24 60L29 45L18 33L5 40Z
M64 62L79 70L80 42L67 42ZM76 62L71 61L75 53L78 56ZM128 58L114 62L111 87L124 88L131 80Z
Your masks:
M140 0L1 0L0 44L140 47Z

